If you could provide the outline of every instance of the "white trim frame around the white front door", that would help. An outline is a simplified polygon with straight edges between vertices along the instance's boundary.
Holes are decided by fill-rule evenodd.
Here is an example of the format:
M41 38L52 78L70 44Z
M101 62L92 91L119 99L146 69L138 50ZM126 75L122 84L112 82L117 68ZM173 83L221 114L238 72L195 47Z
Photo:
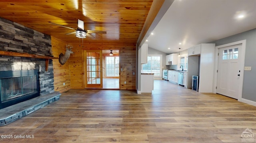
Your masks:
M233 46L233 45L239 45L239 44L242 44L242 50L241 50L241 53L239 55L239 57L241 58L240 59L241 64L239 65L240 81L239 81L239 88L238 88L238 101L250 104L249 103L249 102L251 102L250 100L246 100L246 99L242 98L243 85L244 85L244 61L245 61L245 51L246 51L246 40L236 41L236 42L233 42L233 43L228 43L228 44L219 45L219 46L215 47L214 87L213 87L213 91L214 91L214 93L216 93L219 49L224 48L224 47Z

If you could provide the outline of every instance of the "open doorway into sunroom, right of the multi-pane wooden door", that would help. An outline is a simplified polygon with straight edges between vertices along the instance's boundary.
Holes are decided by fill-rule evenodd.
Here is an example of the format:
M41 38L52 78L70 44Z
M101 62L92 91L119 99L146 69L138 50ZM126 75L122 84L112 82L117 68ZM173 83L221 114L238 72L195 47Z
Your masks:
M111 55L110 52L113 54ZM102 88L119 89L120 82L119 50L102 50Z

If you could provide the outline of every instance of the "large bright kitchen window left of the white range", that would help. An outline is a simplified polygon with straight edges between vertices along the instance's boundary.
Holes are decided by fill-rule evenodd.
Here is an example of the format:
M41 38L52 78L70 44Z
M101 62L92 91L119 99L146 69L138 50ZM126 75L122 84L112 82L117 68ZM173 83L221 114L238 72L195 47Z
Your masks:
M142 64L142 70L154 73L154 77L162 77L162 55L148 55L148 63Z

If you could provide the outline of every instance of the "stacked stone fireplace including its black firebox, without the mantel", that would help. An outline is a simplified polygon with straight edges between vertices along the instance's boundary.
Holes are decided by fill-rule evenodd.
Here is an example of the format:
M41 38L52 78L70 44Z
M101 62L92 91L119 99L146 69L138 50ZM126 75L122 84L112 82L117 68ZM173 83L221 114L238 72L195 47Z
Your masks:
M50 35L0 18L0 51L50 57L51 49ZM46 59L0 55L0 109L52 92L52 59L46 63Z

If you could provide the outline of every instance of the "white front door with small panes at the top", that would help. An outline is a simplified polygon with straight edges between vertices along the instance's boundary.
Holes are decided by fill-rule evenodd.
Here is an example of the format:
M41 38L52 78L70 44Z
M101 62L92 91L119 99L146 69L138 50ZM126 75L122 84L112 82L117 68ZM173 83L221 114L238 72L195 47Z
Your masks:
M216 93L238 99L242 44L219 49Z

